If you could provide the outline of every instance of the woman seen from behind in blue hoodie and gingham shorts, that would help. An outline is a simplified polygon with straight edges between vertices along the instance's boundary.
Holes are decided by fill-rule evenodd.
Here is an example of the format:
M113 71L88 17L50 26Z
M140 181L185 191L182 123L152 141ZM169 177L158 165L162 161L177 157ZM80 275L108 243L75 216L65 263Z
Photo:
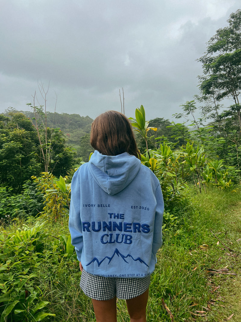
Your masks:
M163 197L158 179L140 162L132 127L108 111L92 123L94 154L71 183L69 231L80 287L97 322L115 322L116 298L130 321L145 322L150 274L162 245Z

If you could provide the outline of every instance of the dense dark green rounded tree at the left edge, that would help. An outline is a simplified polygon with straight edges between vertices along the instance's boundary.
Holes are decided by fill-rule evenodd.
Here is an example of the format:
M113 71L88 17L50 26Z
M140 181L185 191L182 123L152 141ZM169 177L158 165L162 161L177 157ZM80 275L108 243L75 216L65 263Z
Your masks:
M22 113L8 118L0 114L0 184L20 192L22 184L39 174L38 137Z

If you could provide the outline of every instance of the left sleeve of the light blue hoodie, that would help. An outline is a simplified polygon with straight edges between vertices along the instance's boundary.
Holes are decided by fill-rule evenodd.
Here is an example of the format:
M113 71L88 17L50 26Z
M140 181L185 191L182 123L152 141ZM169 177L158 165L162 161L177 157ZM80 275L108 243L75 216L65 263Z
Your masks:
M83 248L82 223L80 220L80 178L78 170L73 176L71 182L71 200L69 210L69 232L71 235L71 244L75 246L77 259L81 258Z

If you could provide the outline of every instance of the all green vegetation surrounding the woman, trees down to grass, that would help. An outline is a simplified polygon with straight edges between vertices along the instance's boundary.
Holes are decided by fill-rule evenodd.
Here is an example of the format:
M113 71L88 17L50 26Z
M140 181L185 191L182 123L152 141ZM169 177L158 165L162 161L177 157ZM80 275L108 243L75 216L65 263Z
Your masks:
M241 202L241 10L230 15L228 24L217 30L199 59L200 95L174 115L186 122L147 121L142 105L130 118L141 162L159 179L165 201L165 247L152 276L149 321L207 316L216 322L234 316L230 305L215 308L215 303L227 294L237 298L238 287L228 289L230 280L223 282L215 273L210 278L210 272L236 276L229 268L241 269L240 214L233 208ZM43 106L33 103L31 112L0 114L0 322L88 322L94 312L77 287L79 270L67 225L71 178L93 152L92 119L49 113L47 92L40 90ZM222 105L225 97L233 99L228 107ZM215 270L215 265L225 269ZM235 281L240 285L239 276ZM226 289L214 299L215 283ZM128 321L121 300L117 307L119 321ZM234 321L240 321L236 311Z

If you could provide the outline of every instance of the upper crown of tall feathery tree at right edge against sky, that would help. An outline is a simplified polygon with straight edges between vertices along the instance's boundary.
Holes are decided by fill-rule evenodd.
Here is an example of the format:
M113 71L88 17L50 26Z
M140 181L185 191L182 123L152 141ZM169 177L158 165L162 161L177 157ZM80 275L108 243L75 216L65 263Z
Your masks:
M218 104L223 98L232 99L241 131L241 9L229 16L228 24L216 31L207 43L206 52L198 59L204 73L199 76L200 90Z

